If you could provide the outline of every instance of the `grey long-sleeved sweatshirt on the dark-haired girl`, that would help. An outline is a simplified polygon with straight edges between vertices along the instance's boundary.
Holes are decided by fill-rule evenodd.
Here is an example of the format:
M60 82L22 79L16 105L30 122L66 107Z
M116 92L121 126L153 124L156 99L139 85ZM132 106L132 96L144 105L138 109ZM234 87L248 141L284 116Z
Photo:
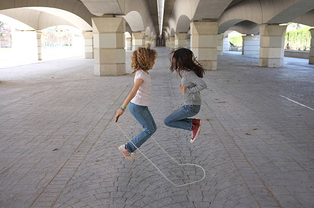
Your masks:
M200 91L207 87L205 81L194 71L184 71L181 85L186 87L186 93L183 93L184 105L201 105Z

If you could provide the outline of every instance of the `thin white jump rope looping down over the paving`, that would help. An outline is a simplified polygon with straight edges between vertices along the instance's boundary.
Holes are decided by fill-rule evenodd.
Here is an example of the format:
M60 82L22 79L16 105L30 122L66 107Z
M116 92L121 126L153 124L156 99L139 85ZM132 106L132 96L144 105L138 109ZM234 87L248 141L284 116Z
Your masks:
M184 164L180 164L178 161L176 161L173 157L171 157L162 147L161 145L156 142L156 140L154 138L152 138L154 140L154 142L156 142L156 144L159 146L160 149L162 149L166 155L168 155L176 164L178 165L194 165L194 166L197 166L197 167L200 167L203 172L204 172L204 176L200 179L200 180L197 180L197 181L193 181L193 182L190 182L190 183L184 183L184 184L181 184L181 185L176 185L175 183L173 183L167 176L165 176L165 174L163 174L163 172L161 172L161 170L159 170L159 168L157 168L157 166L138 148L136 147L136 145L131 141L131 139L124 133L124 131L120 128L119 124L116 123L116 126L119 127L119 129L121 130L121 132L124 134L124 136L126 136L126 138L128 138L128 140L134 145L134 147L162 174L162 176L164 176L164 178L169 181L169 183L171 183L172 185L176 186L176 187L180 187L180 186L184 186L184 185L189 185L189 184L193 184L193 183L197 183L197 182L200 182L201 180L203 180L205 178L205 170L203 169L203 167L201 165L197 165L197 164L191 164L191 163L184 163Z

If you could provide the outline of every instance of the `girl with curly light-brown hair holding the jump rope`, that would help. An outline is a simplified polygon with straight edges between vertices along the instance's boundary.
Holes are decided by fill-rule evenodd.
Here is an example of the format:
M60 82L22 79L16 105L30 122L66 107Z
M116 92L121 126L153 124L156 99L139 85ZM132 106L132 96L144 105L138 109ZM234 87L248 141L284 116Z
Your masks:
M150 44L147 44L146 48L139 47L136 51L133 51L131 55L131 68L132 74L135 73L134 86L132 91L127 96L123 105L116 111L115 122L119 119L129 104L129 111L136 120L143 126L143 131L135 136L131 141L136 147L141 145L156 131L156 124L148 110L148 106L151 103L151 79L148 71L152 69L155 64L157 52L150 48ZM135 150L136 147L128 142L119 147L120 152L128 160L132 161L136 159Z

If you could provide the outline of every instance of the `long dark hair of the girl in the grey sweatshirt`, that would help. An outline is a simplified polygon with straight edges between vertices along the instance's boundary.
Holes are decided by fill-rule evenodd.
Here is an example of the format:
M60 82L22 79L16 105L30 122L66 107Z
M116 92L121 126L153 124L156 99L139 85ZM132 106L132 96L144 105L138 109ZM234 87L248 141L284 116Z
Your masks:
M186 48L176 49L170 53L169 58L171 73L175 71L176 74L182 77L183 71L194 71L198 77L203 78L205 71L191 50Z

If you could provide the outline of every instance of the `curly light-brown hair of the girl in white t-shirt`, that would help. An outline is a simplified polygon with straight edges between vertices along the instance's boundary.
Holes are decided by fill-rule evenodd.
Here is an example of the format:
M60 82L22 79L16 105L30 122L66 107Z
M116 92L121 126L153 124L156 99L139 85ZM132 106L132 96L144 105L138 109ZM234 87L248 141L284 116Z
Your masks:
M157 57L157 52L150 48L150 44L146 45L146 48L139 47L132 52L131 55L131 69L132 74L142 69L147 71L150 69L152 61Z

